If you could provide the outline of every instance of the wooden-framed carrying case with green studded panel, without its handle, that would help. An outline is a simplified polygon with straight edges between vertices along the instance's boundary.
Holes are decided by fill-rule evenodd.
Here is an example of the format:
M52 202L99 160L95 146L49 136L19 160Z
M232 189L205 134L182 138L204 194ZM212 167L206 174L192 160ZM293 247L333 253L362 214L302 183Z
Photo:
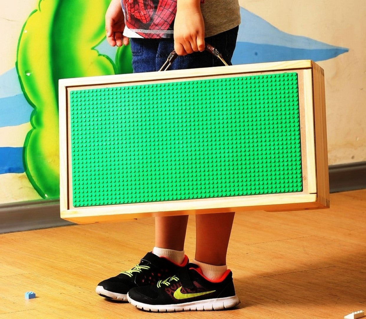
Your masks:
M310 60L59 81L61 217L329 207Z

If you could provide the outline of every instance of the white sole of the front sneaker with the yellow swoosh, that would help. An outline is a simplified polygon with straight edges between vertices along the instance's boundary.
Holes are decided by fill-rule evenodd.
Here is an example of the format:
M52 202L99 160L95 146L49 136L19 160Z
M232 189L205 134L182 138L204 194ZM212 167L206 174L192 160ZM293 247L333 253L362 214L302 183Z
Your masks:
M135 307L152 312L179 312L179 311L211 311L223 310L235 307L240 304L240 300L236 296L226 298L213 298L200 301L185 302L182 304L172 305L149 305L142 302L135 301L128 296L127 300Z

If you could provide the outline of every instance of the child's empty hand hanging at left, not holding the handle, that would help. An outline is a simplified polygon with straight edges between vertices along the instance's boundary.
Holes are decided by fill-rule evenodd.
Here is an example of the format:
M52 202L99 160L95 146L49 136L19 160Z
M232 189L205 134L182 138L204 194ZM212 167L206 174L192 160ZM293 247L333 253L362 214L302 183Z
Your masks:
M105 31L107 41L112 47L128 45L129 39L123 36L124 16L120 0L112 0L105 13Z

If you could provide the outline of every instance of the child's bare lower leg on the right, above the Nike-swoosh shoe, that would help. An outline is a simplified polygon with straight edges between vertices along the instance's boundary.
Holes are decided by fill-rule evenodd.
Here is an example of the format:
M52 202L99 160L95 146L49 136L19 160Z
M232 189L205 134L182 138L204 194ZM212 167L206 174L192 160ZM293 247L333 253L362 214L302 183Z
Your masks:
M226 265L234 215L235 213L196 215L196 261L216 266Z

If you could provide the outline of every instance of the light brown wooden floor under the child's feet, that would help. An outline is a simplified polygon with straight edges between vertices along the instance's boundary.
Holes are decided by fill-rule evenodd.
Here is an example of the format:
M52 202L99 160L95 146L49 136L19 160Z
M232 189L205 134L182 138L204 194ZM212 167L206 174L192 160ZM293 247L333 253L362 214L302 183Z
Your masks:
M366 190L330 199L328 210L237 214L228 266L242 303L220 312L142 312L94 292L152 249L151 218L0 235L0 319L332 319L366 311ZM194 234L191 216L191 258ZM37 298L25 300L26 291Z

